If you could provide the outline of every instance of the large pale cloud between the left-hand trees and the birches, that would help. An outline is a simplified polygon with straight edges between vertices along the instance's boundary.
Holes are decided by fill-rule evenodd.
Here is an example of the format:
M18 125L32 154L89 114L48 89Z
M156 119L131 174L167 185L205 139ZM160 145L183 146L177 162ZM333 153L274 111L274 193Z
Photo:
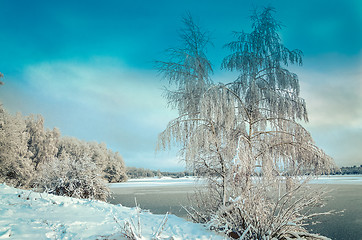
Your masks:
M158 134L176 116L166 108L155 72L98 58L32 65L23 78L35 102L32 111L51 119L64 135L105 142L131 166L157 162L164 170L182 170L173 157L163 158L164 165L155 157Z

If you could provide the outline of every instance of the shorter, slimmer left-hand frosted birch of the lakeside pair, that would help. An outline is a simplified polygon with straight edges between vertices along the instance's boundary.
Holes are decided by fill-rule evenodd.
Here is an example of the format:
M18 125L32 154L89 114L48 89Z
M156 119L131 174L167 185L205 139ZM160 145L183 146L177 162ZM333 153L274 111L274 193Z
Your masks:
M206 56L209 36L194 23L191 16L184 18L184 25L182 46L167 50L169 61L158 62L160 72L175 87L174 90L166 90L165 97L179 112L179 117L161 133L159 144L165 148L172 141L180 143L181 154L188 167L198 176L212 176L209 178L210 184L218 187L210 187L209 191L214 192L218 202L225 204L226 169L229 167L226 161L232 157L229 148L235 148L236 142L232 137L226 137L230 132L226 129L228 125L223 123L228 119L222 117L221 112L209 110L223 111L218 105L227 105L227 102L217 99L205 101L205 95L216 97L218 94L213 90L214 84L210 78L213 69ZM222 135L225 135L223 139ZM223 140L229 144L223 143ZM222 179L221 183L217 178Z

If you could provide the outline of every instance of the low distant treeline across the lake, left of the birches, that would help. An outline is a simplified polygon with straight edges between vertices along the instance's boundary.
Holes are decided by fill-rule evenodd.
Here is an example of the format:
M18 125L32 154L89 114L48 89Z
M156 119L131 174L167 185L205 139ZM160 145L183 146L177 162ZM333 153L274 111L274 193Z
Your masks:
M173 177L180 178L193 176L192 173L184 172L162 172L160 170L150 170L145 168L127 167L128 178L146 178L146 177Z

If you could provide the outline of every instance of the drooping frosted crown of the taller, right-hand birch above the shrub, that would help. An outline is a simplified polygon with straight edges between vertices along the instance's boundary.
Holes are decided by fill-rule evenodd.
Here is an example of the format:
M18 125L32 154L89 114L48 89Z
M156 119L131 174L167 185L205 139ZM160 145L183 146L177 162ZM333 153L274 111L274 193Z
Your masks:
M321 173L334 167L333 160L315 146L310 133L300 124L308 121L306 103L299 96L298 76L289 64L302 64L302 52L281 43L280 24L266 8L252 17L251 33L236 33L227 44L231 51L222 68L238 71L239 77L220 86L234 100L238 133L238 160L257 167L265 176ZM248 159L245 159L245 156ZM249 162L245 162L249 161Z

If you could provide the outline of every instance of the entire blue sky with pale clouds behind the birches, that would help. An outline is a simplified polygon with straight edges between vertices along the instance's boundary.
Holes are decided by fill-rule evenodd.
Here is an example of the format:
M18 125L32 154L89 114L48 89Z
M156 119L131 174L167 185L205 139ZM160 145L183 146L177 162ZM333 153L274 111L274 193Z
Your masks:
M49 128L105 142L129 166L182 170L175 151L155 155L157 135L176 116L161 97L154 60L179 44L188 12L210 31L214 81L232 31L250 31L255 7L272 5L286 46L304 52L299 75L311 131L339 166L361 165L362 2L0 0L0 101L42 114Z

